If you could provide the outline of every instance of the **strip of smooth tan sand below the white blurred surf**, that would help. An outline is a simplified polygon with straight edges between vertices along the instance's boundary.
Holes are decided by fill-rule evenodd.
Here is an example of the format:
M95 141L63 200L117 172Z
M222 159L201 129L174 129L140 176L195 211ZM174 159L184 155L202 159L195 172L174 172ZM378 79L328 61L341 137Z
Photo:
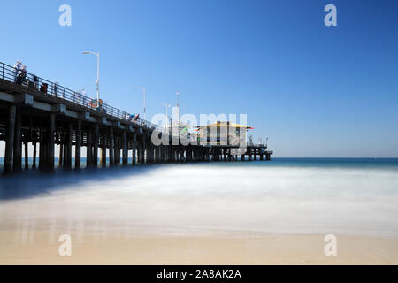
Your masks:
M59 256L48 233L23 242L1 232L0 264L398 264L396 238L337 236L337 256L325 256L323 235L75 238L72 255Z

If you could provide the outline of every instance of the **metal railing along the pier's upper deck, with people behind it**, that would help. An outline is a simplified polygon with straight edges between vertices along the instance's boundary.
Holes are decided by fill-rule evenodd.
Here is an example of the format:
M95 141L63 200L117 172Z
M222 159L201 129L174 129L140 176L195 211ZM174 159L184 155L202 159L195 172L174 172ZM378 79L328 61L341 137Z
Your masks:
M107 103L101 103L101 100L100 103L97 103L96 99L84 96L79 91L73 91L70 88L65 88L57 84L57 82L45 80L34 73L27 73L22 70L18 70L15 67L2 62L0 62L0 78L36 91L40 91L49 96L56 96L58 98L65 99L70 103L79 104L80 106L86 107L89 110L98 111L117 119L124 119L134 125L146 126L151 129L160 128L160 126L147 120L141 118L131 118L130 113L121 111Z

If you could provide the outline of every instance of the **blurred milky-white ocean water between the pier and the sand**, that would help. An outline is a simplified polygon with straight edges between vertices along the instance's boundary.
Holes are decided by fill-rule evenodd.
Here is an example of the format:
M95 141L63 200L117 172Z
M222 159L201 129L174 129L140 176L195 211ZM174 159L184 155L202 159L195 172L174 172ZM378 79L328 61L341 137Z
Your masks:
M398 236L398 159L150 164L0 179L0 231Z

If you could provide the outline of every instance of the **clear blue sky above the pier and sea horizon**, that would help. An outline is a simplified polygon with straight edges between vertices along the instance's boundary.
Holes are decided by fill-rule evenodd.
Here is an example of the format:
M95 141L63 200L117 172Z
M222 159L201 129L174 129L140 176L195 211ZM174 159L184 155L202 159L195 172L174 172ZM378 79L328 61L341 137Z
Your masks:
M58 25L61 4L72 27ZM337 27L324 24L326 4ZM2 1L0 61L147 115L244 113L275 157L398 157L398 1ZM3 149L2 149L3 152Z

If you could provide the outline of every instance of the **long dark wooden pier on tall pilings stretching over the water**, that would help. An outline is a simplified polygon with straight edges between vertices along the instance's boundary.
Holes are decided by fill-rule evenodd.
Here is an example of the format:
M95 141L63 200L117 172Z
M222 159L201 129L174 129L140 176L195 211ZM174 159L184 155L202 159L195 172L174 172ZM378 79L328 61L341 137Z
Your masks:
M233 147L229 146L183 146L180 143L155 146L151 135L159 131L157 125L143 119L129 119L125 111L104 103L93 107L91 98L49 80L36 77L36 80L17 81L14 72L11 65L0 63L0 140L5 141L4 174L30 168L29 144L33 146L31 168L43 171L55 169L56 144L58 167L65 169L82 167L82 148L86 148L87 168L128 165L129 152L130 165L251 161L257 157L270 160L272 155L264 145L248 146L241 156L233 155ZM26 157L24 164L22 153Z

